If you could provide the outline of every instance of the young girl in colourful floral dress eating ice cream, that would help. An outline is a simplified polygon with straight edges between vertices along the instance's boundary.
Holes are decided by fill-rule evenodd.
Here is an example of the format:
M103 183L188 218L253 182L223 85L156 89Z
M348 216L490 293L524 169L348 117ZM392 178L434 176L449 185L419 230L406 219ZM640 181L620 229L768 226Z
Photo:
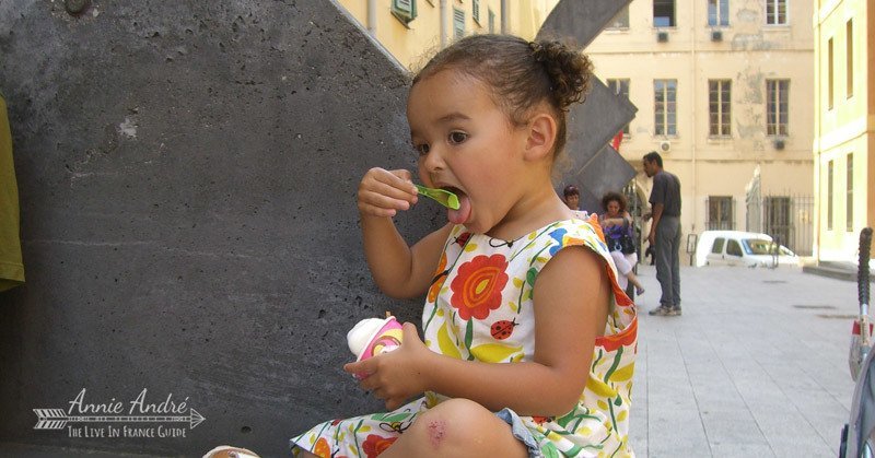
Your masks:
M559 43L475 35L413 79L419 179L460 207L408 246L393 216L418 201L412 176L372 168L359 211L377 285L425 295L423 336L405 324L398 350L347 364L388 412L319 424L292 439L296 456L632 455L634 308L597 224L550 181L590 77Z

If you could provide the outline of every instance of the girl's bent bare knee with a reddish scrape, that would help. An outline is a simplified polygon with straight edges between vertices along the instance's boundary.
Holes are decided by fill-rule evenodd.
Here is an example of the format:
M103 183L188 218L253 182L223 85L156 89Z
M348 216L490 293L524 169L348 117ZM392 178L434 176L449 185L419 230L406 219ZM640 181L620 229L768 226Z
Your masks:
M477 402L451 399L420 414L382 458L528 457L511 425Z

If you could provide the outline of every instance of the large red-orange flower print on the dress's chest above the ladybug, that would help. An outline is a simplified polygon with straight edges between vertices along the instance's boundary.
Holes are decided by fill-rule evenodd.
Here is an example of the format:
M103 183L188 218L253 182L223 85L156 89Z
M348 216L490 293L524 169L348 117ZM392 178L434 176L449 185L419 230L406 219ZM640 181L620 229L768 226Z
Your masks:
M464 320L485 319L490 310L501 306L501 290L508 284L508 260L502 255L476 256L458 268L450 289L450 303L458 308Z

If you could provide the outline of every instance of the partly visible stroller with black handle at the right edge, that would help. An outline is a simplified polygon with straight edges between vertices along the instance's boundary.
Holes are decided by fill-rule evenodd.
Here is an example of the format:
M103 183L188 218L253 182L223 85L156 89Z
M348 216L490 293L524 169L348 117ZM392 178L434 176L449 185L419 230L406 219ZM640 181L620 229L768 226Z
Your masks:
M868 254L872 227L860 232L860 258L856 286L860 317L854 320L848 362L856 380L851 403L851 418L841 431L839 458L873 457L875 451L875 351L872 351L873 327L868 316Z

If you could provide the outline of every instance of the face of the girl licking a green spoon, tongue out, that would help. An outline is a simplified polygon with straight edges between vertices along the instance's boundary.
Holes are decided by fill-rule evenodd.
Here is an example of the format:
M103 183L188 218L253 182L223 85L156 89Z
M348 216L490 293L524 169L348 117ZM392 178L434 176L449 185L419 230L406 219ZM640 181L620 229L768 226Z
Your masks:
M499 227L533 180L526 129L511 125L482 83L454 70L413 85L407 118L420 178L459 197L448 220L478 233Z

